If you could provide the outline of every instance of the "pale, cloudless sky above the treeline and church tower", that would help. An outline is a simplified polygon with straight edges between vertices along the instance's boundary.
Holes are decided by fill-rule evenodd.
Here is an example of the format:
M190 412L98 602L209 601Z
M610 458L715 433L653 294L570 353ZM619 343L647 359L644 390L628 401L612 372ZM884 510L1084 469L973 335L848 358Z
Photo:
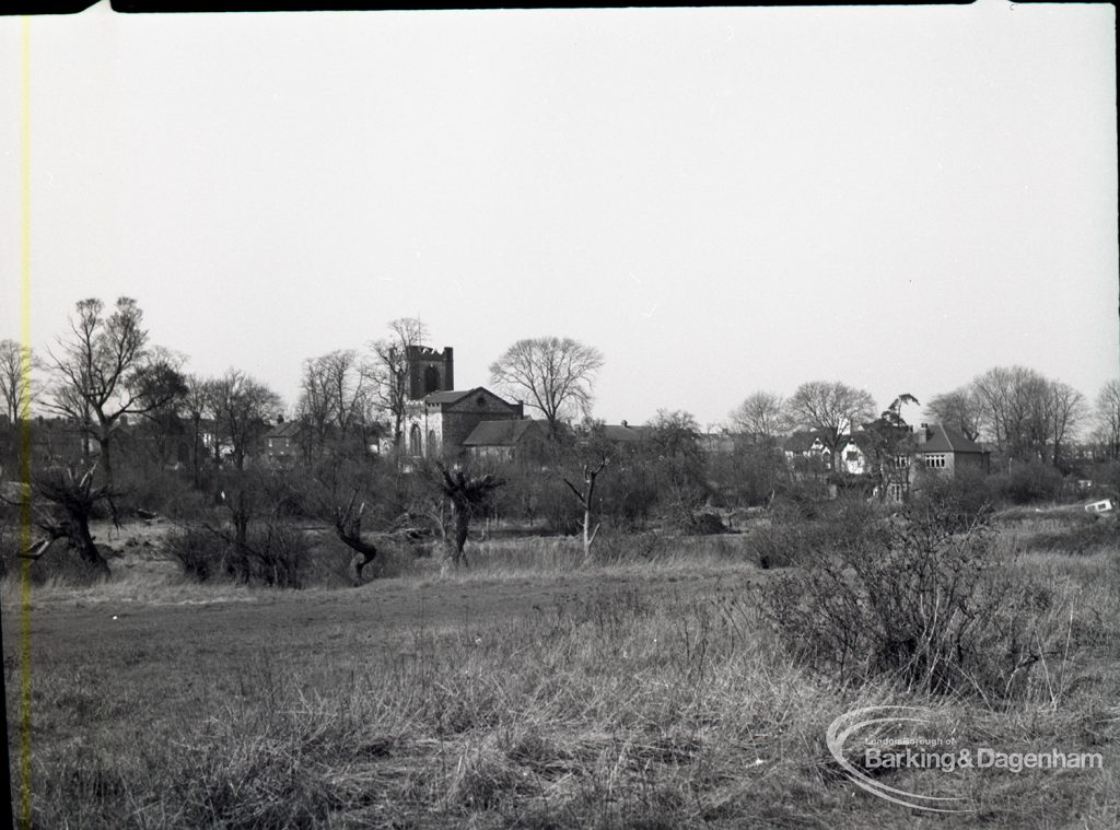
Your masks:
M30 323L134 297L289 405L399 317L456 385L599 348L595 416L758 390L925 402L1120 374L1111 4L31 20ZM21 24L0 19L0 338L18 337Z

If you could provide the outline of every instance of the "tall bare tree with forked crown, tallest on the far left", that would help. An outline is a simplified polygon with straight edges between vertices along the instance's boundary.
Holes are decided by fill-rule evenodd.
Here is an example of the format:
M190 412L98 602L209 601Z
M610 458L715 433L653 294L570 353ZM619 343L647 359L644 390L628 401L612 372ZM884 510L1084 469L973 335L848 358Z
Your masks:
M108 315L101 300L81 300L69 325L71 334L48 351L55 375L48 405L97 442L111 483L110 446L121 418L166 407L185 392L183 376L170 353L148 347L143 313L129 297Z

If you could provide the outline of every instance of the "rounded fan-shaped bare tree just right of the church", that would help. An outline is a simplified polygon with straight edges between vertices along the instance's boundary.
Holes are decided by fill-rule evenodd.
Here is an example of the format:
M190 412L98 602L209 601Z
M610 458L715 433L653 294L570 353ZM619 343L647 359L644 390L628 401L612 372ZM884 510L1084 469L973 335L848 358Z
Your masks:
M517 341L491 364L491 381L544 416L549 431L566 417L589 416L603 354L569 337Z

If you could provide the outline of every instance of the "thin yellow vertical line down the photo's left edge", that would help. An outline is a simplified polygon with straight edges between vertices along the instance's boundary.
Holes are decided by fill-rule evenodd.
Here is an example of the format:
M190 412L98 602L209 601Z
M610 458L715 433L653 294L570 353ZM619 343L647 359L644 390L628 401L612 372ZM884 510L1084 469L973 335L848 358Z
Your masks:
M19 420L19 525L22 549L31 548L31 18L22 18L20 95L21 251L19 268L20 400L27 411ZM20 828L31 827L31 560L22 559L19 579L19 813Z

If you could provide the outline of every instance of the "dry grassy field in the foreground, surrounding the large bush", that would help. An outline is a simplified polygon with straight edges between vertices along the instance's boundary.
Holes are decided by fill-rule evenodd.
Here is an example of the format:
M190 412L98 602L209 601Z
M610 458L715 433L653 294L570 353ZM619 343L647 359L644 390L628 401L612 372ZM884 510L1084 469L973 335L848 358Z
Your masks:
M35 826L1118 827L1118 552L1032 550L1048 532L1000 531L1074 600L1067 647L1007 705L812 674L759 614L773 571L739 537L618 542L610 565L564 540L472 543L469 571L300 591L192 585L122 544L112 581L35 589ZM0 590L13 655L18 585ZM15 761L15 656L4 679ZM884 783L963 812L893 804L825 744L884 705L958 746L1102 768L898 770Z

